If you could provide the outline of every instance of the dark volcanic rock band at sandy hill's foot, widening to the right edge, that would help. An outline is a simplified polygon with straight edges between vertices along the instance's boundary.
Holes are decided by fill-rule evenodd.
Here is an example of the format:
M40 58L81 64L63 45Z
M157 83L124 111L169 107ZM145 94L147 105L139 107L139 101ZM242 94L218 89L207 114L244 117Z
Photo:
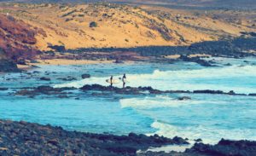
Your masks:
M136 48L85 48L85 49L69 49L68 52L104 52L106 54L119 51L119 55L124 52L132 52L143 56L163 56L163 55L193 55L205 54L221 57L241 58L245 56L253 56L253 53L244 53L249 49L256 49L256 38L230 38L219 41L205 41L201 43L192 43L190 46L146 46ZM255 56L255 55L254 55ZM122 58L123 61L127 57ZM204 62L201 62L202 64ZM211 62L209 62L211 63ZM212 64L212 63L211 63ZM207 64L206 64L207 65Z

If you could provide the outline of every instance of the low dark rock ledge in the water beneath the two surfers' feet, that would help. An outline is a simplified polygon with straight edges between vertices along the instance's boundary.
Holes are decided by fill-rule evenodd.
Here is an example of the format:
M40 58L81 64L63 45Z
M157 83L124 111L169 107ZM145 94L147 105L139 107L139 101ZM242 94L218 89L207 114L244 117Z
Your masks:
M5 89L8 90L8 89ZM100 84L86 84L80 89L76 89L73 87L63 87L63 88L54 88L51 86L38 86L35 88L21 88L20 90L15 92L15 95L28 95L28 96L35 96L35 95L65 95L72 94L71 92L67 92L68 90L82 90L84 92L89 91L102 91L108 93L114 93L119 95L144 95L144 94L173 94L173 93L189 93L189 94L211 94L211 95L250 95L256 96L255 93L250 94L238 94L235 93L233 90L229 92L224 92L222 90L155 90L152 87L125 87L118 88L118 87L110 87L110 86L102 86ZM0 90L1 91L1 90Z

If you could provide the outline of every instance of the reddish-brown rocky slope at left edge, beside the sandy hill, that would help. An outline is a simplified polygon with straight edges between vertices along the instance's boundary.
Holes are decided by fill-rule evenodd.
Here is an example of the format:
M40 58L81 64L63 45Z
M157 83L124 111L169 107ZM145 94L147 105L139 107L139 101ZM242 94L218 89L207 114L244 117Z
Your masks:
M0 14L0 48L12 61L31 59L38 54L34 49L37 31L22 20Z

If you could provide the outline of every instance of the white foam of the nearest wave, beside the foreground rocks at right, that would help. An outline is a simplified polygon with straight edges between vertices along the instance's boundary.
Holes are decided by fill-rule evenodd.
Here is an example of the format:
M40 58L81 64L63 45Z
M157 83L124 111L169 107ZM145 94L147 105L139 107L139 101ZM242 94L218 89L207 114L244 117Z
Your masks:
M151 126L157 131L154 134L166 137L181 136L189 138L190 142L194 139L201 138L204 143L216 144L221 138L228 138L230 140L256 140L255 130L221 130L203 125L189 126L189 127L175 127L171 124L155 121ZM152 136L154 134L147 134Z

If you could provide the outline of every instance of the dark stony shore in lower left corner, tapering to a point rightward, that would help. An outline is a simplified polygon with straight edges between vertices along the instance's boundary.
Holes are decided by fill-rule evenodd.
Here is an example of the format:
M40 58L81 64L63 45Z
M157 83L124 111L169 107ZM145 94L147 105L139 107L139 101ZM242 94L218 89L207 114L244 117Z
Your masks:
M49 124L0 120L0 155L136 155L137 150L188 144L180 137L91 134Z

